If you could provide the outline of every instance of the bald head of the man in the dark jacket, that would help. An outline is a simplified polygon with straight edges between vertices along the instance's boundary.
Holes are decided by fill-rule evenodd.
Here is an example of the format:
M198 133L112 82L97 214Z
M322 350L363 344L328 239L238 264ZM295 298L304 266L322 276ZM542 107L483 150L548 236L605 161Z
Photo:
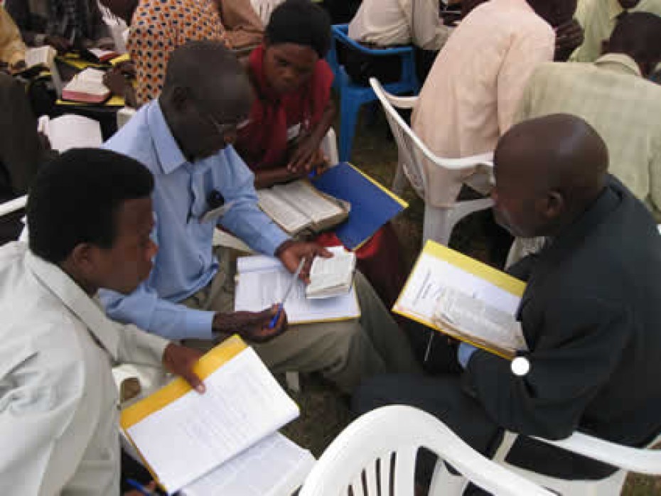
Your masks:
M513 126L494 156L496 216L521 237L553 235L601 193L608 151L587 122L567 114Z

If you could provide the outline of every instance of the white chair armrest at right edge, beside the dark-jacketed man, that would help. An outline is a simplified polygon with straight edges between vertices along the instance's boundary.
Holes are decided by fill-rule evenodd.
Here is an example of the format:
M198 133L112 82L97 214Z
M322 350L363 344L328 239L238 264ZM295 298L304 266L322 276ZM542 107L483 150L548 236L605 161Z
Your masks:
M559 441L537 437L534 439L624 470L648 475L661 474L661 451L622 446L580 432ZM659 438L654 442L656 441L659 441Z

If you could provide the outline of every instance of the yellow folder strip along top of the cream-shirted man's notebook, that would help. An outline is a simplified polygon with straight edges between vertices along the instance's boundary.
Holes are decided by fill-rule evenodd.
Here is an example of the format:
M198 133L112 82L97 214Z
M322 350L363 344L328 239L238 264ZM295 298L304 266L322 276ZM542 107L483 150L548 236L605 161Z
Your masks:
M200 358L193 367L193 371L198 374L200 379L204 380L246 348L247 345L243 340L238 335L233 335ZM158 389L154 394L150 394L149 397L141 399L122 410L119 424L126 431L146 416L183 397L190 390L190 384L181 377L177 377L170 384Z

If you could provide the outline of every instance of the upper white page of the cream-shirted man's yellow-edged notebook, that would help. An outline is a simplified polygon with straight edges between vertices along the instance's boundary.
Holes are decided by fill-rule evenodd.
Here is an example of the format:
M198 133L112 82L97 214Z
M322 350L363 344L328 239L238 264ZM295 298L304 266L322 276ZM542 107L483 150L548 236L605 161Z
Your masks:
M175 492L299 415L247 348L188 392L127 429L168 492Z

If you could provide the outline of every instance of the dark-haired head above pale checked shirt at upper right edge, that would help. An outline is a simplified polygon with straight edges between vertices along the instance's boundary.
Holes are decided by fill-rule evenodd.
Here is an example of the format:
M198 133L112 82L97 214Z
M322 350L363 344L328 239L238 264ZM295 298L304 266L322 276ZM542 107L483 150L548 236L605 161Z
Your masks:
M647 77L661 62L661 17L649 12L622 16L603 52L629 55Z

